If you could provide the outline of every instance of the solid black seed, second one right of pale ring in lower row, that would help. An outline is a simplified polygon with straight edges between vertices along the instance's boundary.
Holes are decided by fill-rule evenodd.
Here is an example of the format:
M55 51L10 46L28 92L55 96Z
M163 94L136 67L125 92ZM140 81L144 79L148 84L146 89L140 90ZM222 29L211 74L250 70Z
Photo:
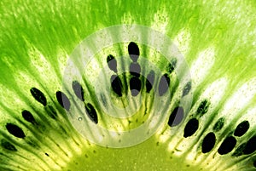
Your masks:
M202 153L207 153L212 151L216 142L216 136L214 133L208 133L207 136L204 138L201 144L201 151Z

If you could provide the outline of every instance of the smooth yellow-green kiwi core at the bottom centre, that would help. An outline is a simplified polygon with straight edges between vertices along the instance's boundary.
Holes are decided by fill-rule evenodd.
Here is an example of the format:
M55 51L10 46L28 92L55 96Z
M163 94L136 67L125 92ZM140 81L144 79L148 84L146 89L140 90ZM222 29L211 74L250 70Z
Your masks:
M183 157L170 155L171 152L166 151L168 146L156 145L156 141L151 138L143 144L124 149L99 147L95 153L85 150L85 155L74 157L65 170L206 170L201 166L191 165Z

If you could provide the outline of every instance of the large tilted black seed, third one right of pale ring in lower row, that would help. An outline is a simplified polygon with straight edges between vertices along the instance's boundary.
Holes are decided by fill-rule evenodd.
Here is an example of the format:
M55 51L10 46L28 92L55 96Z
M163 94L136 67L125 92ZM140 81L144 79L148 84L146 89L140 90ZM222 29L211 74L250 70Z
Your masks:
M236 146L236 139L233 136L225 138L222 144L218 147L218 154L224 155L232 151Z

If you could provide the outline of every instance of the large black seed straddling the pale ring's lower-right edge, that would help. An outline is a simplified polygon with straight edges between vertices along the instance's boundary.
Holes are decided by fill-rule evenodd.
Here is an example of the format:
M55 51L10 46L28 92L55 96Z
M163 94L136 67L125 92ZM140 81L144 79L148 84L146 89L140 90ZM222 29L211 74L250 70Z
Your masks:
M179 106L179 107L176 107L170 117L169 117L169 120L168 120L168 125L170 127L175 127L177 126L179 123L182 122L183 120L183 117L184 117L184 110L183 110L183 107Z

